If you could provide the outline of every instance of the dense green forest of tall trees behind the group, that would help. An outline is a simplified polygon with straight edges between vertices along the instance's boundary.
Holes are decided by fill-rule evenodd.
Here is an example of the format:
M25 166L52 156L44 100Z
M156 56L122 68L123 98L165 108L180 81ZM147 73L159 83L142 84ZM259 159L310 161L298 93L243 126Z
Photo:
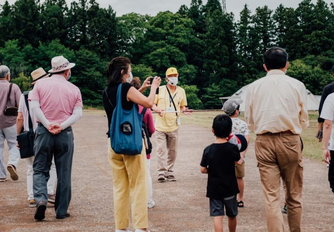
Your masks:
M107 64L116 56L129 57L133 75L141 80L164 79L166 69L176 67L194 109L219 108L219 97L263 77L263 53L274 45L289 53L287 74L313 94L332 82L333 3L303 0L296 9L281 4L254 12L244 5L235 21L219 0L189 1L177 13L120 17L96 0L70 6L65 0L5 1L0 6L0 63L10 68L14 83L28 90L30 72L49 70L51 58L63 55L76 63L70 81L91 106L101 105Z

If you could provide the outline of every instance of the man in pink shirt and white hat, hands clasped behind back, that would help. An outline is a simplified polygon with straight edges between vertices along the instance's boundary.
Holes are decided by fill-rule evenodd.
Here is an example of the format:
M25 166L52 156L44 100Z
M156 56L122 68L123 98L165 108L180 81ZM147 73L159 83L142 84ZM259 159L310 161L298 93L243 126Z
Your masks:
M82 116L82 100L78 87L68 82L69 63L62 55L51 60L52 77L39 80L31 93L31 111L39 121L34 144L33 192L37 203L35 219L43 220L47 202L46 183L52 156L57 170L54 209L57 219L69 217L73 131L71 125Z

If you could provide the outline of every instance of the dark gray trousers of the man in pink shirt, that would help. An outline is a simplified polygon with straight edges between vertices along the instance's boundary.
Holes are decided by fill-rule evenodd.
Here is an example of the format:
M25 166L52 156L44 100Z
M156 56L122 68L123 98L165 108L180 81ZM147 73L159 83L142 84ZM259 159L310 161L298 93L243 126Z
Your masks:
M57 171L57 189L54 210L56 216L66 214L71 200L71 171L73 159L73 131L67 127L59 134L51 134L43 125L38 125L35 135L33 163L33 191L36 203L47 202L47 181L54 156Z

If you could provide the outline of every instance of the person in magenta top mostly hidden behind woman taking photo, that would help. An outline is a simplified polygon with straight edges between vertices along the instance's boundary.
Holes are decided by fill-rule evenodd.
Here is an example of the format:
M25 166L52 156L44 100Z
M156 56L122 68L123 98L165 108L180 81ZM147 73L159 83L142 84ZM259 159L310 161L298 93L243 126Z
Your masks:
M131 85L135 87L136 89L139 89L141 87L141 83L138 77L135 77ZM139 107L139 113L142 112L143 108L141 105L138 105ZM152 137L152 134L155 132L155 127L153 123L153 116L152 116L152 111L151 109L147 109L144 116L143 116L143 122L146 125L148 134L150 138ZM152 190L152 178L150 174L150 166L151 166L151 154L146 154L147 158L147 177L148 177L148 202L147 202L147 207L152 208L155 206L155 202L153 201L153 190Z

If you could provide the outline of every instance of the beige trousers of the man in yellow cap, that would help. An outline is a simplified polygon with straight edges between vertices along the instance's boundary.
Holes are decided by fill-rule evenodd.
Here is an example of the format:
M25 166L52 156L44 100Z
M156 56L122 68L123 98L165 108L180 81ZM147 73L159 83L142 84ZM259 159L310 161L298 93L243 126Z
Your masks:
M159 130L155 132L157 138L157 164L159 175L173 175L172 172L174 171L177 142L179 137L178 132L179 129L170 132Z

